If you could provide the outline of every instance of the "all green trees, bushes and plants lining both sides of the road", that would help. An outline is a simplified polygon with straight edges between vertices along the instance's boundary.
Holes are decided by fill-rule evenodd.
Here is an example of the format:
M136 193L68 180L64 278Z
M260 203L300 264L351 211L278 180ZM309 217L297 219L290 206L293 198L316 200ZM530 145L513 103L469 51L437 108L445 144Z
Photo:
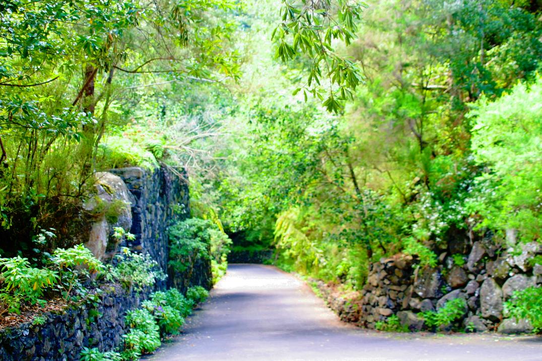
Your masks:
M380 257L435 266L459 234L540 243L541 16L526 0L2 2L0 314L165 277L78 238L117 215L83 208L95 172L124 166L188 174L169 262L202 257L214 282L230 249L356 291ZM152 352L205 296L154 293L124 349L82 359ZM540 302L531 287L506 309L539 332Z

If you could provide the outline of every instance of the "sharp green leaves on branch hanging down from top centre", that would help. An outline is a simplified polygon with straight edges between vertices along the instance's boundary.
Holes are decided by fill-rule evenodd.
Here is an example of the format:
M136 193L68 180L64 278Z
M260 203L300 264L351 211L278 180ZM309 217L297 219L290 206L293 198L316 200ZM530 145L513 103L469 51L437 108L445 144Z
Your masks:
M282 22L272 34L277 43L275 56L283 62L299 55L309 57L304 97L312 94L330 112L340 111L362 81L356 63L339 55L335 46L339 41L349 45L356 38L365 6L349 0L283 1Z

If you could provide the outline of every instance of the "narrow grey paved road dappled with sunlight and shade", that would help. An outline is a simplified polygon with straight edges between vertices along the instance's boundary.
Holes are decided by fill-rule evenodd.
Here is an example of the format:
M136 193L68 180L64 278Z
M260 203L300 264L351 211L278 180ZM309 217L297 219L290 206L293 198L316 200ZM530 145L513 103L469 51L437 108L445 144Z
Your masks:
M542 339L362 330L341 323L292 275L270 266L230 265L183 334L146 359L542 360Z

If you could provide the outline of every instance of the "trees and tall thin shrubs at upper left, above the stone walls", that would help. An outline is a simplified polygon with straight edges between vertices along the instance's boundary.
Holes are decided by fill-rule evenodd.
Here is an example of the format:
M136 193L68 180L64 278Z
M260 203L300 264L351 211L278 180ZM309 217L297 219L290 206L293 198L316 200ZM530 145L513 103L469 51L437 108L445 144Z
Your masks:
M96 170L156 165L152 141L136 146L115 136L136 119L145 123L149 84L182 88L238 76L230 41L236 9L227 0L2 2L2 239L28 244L55 224L60 244L49 249L70 247L80 229L73 219L92 218L81 201ZM0 248L21 250L14 242Z

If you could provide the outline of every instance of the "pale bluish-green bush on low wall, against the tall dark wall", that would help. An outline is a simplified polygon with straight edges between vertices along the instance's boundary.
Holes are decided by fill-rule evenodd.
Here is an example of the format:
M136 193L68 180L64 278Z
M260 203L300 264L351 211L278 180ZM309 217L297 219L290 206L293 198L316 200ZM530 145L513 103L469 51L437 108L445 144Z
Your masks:
M126 288L133 287L135 291L142 291L144 287L153 286L157 280L166 279L158 262L149 254L133 253L123 247L121 254L115 257L119 263L108 267L107 278L119 281Z

